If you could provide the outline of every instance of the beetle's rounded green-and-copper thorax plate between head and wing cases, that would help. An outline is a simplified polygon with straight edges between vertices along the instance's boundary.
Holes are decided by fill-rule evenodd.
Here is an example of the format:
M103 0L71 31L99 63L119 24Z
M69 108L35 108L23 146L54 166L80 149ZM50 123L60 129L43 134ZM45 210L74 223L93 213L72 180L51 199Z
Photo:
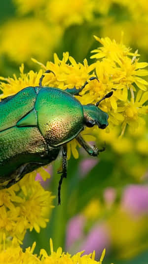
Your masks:
M35 108L39 130L51 147L71 141L83 129L82 105L67 92L42 88Z

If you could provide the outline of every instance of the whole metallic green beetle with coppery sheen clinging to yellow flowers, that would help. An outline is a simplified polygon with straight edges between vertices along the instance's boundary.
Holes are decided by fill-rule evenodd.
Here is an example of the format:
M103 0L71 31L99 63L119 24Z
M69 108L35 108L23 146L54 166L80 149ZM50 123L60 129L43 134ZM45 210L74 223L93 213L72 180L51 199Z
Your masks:
M80 132L85 126L97 124L101 129L108 126L109 116L98 106L113 92L102 98L96 106L82 106L74 95L78 96L88 82L79 89L74 87L63 91L42 87L43 77L38 87L27 87L0 102L0 188L10 187L25 174L55 160L61 151L63 169L58 187L60 204L61 184L63 178L67 177L67 143L76 138L91 156L97 156L104 150L88 145ZM97 78L90 78L93 79Z

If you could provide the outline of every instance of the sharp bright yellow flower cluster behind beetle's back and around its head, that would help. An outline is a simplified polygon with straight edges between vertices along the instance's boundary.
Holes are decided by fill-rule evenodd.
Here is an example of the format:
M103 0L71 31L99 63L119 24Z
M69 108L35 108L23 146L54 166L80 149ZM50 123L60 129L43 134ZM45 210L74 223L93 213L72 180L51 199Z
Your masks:
M138 126L141 127L145 124L143 115L148 112L148 106L145 104L148 101L148 92L146 92L148 82L143 79L143 76L148 75L148 70L144 69L148 66L148 63L139 62L138 57L140 55L137 52L131 53L130 49L123 45L122 42L118 44L115 40L111 41L109 38L95 38L102 44L102 47L92 51L95 53L91 56L91 58L96 59L94 63L88 65L86 59L84 59L83 64L77 63L68 52L63 53L62 60L58 58L57 54L54 54L54 63L47 61L46 65L33 59L41 67L39 72L30 71L26 74L22 64L19 78L15 75L13 78L1 78L7 83L1 83L0 89L3 94L0 97L4 98L8 95L13 95L27 86L38 86L41 74L50 69L55 75L53 73L45 73L42 82L43 86L60 89L73 88L74 86L79 88L86 80L88 81L88 84L81 92L82 97L79 97L79 101L83 105L95 104L113 90L112 97L104 100L100 105L110 115L109 128L111 129L106 129L107 132L110 131L105 136L107 141L110 142L110 139L112 139L112 133L115 139L118 138L119 133L122 136L127 124L133 130L138 128ZM89 79L92 76L96 76L99 82L97 80L90 81ZM98 127L87 128L82 134L86 141L94 140L94 137L87 136L88 134L92 134L95 137L98 137L98 135L101 137L102 135L102 138L105 135ZM112 142L114 143L115 141ZM77 145L78 143L75 140L68 144L69 158L71 150L74 157L78 158Z

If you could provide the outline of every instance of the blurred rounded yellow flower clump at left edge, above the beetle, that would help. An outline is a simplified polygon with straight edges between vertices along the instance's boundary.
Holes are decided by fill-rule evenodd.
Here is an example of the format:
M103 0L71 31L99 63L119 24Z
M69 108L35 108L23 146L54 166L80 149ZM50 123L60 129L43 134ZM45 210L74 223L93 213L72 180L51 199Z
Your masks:
M58 44L61 33L58 26L49 27L43 19L9 20L0 28L0 53L18 63L30 62L32 56L45 60Z

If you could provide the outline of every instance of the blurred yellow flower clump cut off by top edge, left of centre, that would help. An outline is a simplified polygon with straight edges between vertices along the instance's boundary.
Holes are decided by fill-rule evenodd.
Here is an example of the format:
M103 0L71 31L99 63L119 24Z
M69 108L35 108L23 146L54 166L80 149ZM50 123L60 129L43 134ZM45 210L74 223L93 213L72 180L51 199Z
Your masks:
M19 13L25 14L30 11L36 13L40 10L48 22L54 25L59 24L62 27L91 20L95 8L95 0L14 0L14 2L18 6Z

